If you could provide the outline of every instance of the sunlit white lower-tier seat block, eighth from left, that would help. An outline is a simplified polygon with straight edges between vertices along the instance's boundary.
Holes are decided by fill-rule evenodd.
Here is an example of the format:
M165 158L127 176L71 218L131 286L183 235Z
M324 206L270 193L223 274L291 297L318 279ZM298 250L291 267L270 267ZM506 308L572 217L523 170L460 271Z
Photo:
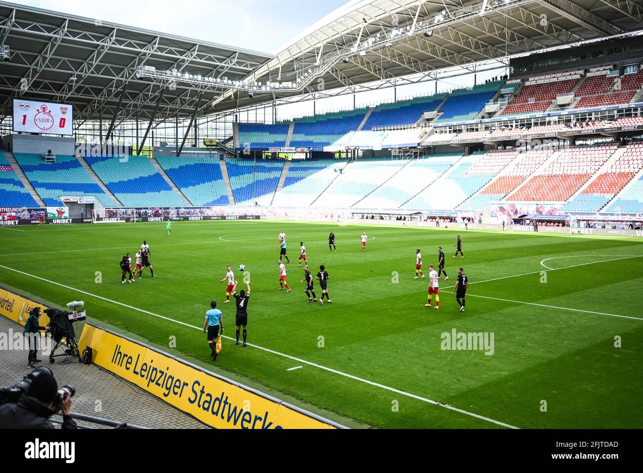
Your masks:
M462 154L423 155L413 160L356 207L396 209L453 166Z

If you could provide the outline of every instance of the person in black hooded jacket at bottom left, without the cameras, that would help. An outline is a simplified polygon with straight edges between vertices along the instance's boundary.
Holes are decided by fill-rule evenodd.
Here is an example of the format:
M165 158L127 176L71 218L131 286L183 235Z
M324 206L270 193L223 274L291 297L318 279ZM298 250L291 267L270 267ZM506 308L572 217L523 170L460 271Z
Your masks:
M58 392L58 383L51 370L39 367L33 380L17 403L0 405L0 429L54 429L50 417L57 412L54 401ZM71 396L61 398L62 428L77 429L76 422L71 418Z

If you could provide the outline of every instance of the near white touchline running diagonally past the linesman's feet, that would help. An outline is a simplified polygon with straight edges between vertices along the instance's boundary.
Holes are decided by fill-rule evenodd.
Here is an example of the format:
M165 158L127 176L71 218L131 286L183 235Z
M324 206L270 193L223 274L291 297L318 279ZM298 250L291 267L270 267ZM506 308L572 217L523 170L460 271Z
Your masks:
M72 288L71 286L66 286L65 284L56 283L55 281L50 281L49 279L44 279L44 277L39 277L39 276L36 276L36 275L33 275L33 274L25 273L23 271L15 270L14 268L9 268L8 266L3 266L2 264L0 264L0 268L5 268L6 270L10 270L10 271L14 271L14 272L19 273L19 274L30 276L30 277L33 277L35 279L39 279L41 281L44 281L46 283L55 284L56 286L60 286L61 288L66 288L66 289L69 289L69 290L72 290L72 291L80 292L80 293L85 294L85 295L89 295L91 297L96 297L96 299L101 299L102 301L113 302L113 304L117 304L119 306L123 306L123 307L126 307L128 309L136 310L136 311L139 311L139 312L142 312L142 313L147 313L148 315L158 317L159 319L168 320L169 322L176 322L177 324L181 324L183 326L194 328L194 329L197 329L197 330L203 330L203 327L197 327L197 326L194 326L194 325L190 325L190 324L187 324L186 322L181 322L181 320L170 319L170 317L165 317L165 315L159 315L159 314L156 314L154 312L139 309L139 308L134 307L134 306L129 306L127 304L123 304L123 302L113 301L111 299L107 299L107 297L102 297L100 295L92 294L90 292L86 292L86 291L83 291L83 290L80 290L80 289L77 289L77 288ZM225 338L225 339L228 339L228 340L234 340L232 337L228 337L228 335L222 335L222 337ZM464 411L463 409L458 409L457 407L453 407L452 405L449 405L449 404L443 404L441 402L437 402L437 401L434 401L434 400L431 400L431 399L428 399L428 398L423 398L422 396L417 396L416 394L407 393L406 391L401 391L401 389L395 389L394 387L379 384L379 383L376 383L376 382L373 382L373 381L366 380L364 378L359 378L358 376L349 375L348 373L343 373L342 371L338 371L336 369L332 369L332 368L329 368L327 366L323 366L323 365L320 365L320 364L309 362L307 360L303 360L302 358L297 358L297 357L293 357L291 355L286 355L285 353L280 353L279 351L271 350L269 348L264 348L264 347L258 346L258 345L253 345L251 343L249 343L248 345L251 346L251 347L263 350L263 351L267 351L267 353L272 353L273 355L278 355L280 357L289 358L290 360L293 360L293 361L296 361L296 362L299 362L299 363L307 364L309 366L314 366L316 368L323 369L324 371L329 371L329 373L334 373L336 375L345 376L346 378L350 378L350 379L353 379L353 380L356 380L356 381L359 381L359 382L363 382L363 383L371 385L371 386L379 387L381 389L386 389L386 391L391 391L392 393L401 394L402 396L408 396L410 398L417 399L419 401L423 401L423 402L426 402L426 403L437 405L439 407L444 407L445 409L449 409L451 411L456 411L456 412L458 412L460 414L466 414L467 416L475 417L475 418L478 418L480 420L485 420L487 422L491 422L491 423L494 423L496 425L500 425L502 427L507 427L508 429L518 429L519 428L519 427L515 427L514 425L510 425L508 423L500 422L498 420L494 420L494 419L491 419L489 417L481 416L480 414L470 413L469 411Z

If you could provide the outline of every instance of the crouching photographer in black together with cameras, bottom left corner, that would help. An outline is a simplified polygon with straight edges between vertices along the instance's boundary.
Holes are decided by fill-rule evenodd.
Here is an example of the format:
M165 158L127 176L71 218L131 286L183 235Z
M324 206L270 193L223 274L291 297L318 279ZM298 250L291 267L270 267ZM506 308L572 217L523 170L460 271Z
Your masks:
M58 389L51 369L40 366L18 384L0 390L0 429L54 429L50 417L62 411L62 428L77 429L71 418L69 385Z

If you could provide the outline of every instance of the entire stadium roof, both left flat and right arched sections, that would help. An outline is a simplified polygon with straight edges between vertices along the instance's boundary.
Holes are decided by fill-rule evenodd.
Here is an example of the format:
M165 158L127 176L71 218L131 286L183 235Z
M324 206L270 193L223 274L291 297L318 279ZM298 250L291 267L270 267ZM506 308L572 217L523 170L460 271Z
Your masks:
M354 0L271 55L0 1L0 44L10 48L9 62L0 62L0 105L8 113L12 97L67 102L80 124L100 111L110 120L122 103L118 124L137 112L149 119L163 90L158 120L185 118L201 94L201 113L324 97L642 28L643 0ZM141 66L296 87L251 95L182 76L171 83L142 77Z

